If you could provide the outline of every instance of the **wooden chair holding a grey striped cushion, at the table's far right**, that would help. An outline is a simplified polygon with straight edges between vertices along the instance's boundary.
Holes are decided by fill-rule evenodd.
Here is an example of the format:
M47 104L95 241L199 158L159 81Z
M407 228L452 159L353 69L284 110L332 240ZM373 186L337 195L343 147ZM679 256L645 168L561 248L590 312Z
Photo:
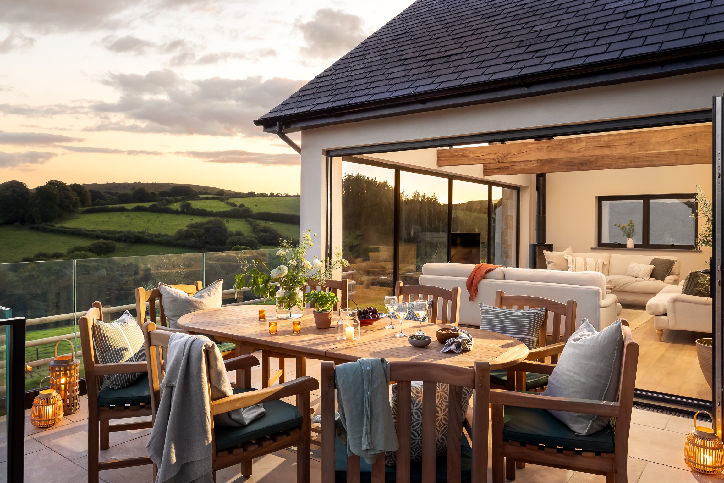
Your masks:
M526 361L545 362L547 359L551 364L555 364L568 338L576 330L576 301L561 303L531 295L505 295L505 292L498 290L495 293L495 306L546 309L546 321L538 335L538 347L529 350ZM550 344L547 343L549 327ZM561 333L562 328L563 333ZM490 377L492 387L498 389L541 391L548 384L548 374L523 372L516 370L515 367L491 371Z

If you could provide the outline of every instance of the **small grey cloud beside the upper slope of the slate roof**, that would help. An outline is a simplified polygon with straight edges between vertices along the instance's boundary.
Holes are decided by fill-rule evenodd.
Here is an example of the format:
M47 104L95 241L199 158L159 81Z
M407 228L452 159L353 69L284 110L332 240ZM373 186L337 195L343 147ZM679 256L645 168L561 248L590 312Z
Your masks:
M354 49L367 36L364 21L342 10L319 9L309 22L298 22L307 45L300 49L303 56L332 59Z

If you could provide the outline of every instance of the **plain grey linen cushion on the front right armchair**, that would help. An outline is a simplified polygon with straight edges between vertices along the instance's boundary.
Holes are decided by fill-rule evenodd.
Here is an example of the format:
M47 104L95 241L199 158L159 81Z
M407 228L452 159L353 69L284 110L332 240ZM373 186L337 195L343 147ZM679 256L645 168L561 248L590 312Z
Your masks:
M614 401L618 394L622 358L621 321L596 332L588 320L583 319L581 327L565 343L542 395ZM600 431L609 421L606 416L594 414L548 412L580 436Z

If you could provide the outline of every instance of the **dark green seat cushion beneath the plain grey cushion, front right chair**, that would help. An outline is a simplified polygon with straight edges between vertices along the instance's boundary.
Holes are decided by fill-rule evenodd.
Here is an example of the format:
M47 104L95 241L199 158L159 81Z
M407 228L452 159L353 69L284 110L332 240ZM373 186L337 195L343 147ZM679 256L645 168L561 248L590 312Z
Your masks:
M505 406L502 437L531 445L613 453L613 428L610 424L599 432L578 436L544 409Z

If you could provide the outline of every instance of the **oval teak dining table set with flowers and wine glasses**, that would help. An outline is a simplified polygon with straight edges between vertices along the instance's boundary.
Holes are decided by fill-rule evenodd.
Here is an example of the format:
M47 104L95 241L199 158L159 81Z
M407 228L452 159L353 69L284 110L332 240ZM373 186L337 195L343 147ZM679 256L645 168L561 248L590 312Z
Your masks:
M434 332L442 327L441 324L422 324L422 329L432 337L432 342L424 348L413 347L407 337L395 337L397 330L384 329L387 321L362 327L358 340L337 340L337 324L333 322L329 329L317 329L311 308L305 308L303 316L297 319L301 322L300 333L292 333L292 321L274 319L277 321L277 333L269 334L269 320L274 317L273 312L269 319L259 320L259 307L264 306L208 308L182 316L178 326L194 334L211 335L216 340L235 343L237 355L261 349L297 358L297 376L306 374L306 358L343 363L384 357L390 362L424 361L467 367L473 366L475 361L488 361L490 369L495 370L514 366L528 356L528 348L520 340L474 327L463 327L473 336L471 350L440 353L442 344L437 342ZM398 324L397 320L395 324ZM408 334L417 330L418 322L404 321L404 324ZM262 374L265 386L268 376ZM236 380L242 387L251 387L251 374L248 372L237 372Z

